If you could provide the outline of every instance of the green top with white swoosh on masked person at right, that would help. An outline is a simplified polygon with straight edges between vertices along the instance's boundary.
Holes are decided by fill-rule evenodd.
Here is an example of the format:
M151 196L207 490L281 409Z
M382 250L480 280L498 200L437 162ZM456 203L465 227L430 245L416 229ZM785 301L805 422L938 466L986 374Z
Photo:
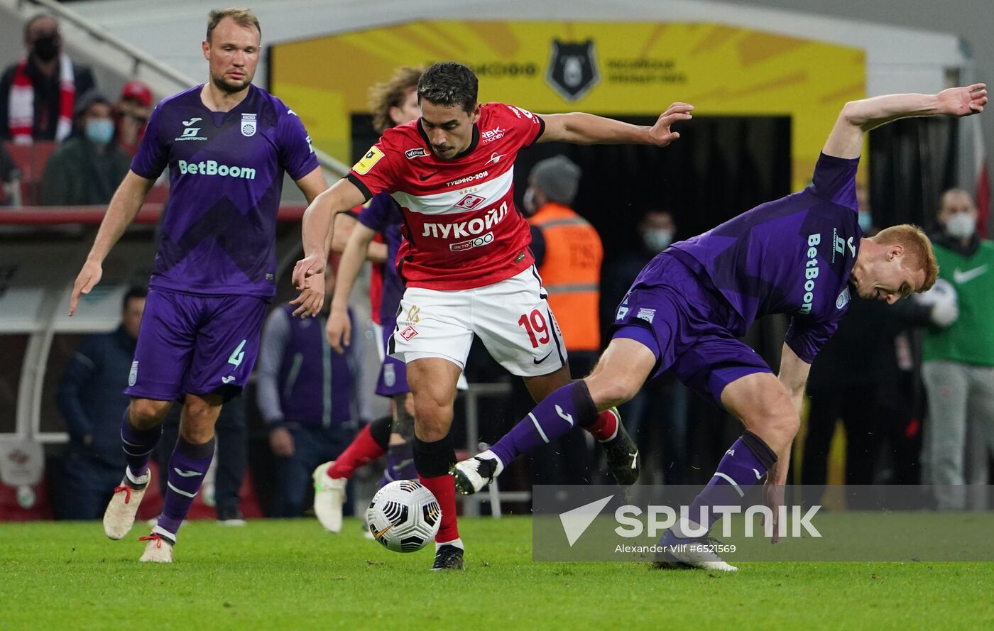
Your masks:
M922 340L923 361L946 360L994 366L994 242L974 236L932 237L939 278L956 289L959 318L944 329L931 328Z

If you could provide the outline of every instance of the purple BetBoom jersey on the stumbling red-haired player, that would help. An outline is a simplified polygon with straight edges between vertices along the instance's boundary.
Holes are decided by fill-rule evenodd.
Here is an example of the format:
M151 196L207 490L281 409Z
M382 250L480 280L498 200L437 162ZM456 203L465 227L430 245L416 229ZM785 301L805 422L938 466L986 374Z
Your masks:
M745 335L762 315L791 315L785 342L810 362L849 308L849 275L863 237L858 166L858 158L822 154L808 188L674 243L667 252L728 300L738 316L733 334ZM651 285L651 278L642 278L646 270L639 279Z

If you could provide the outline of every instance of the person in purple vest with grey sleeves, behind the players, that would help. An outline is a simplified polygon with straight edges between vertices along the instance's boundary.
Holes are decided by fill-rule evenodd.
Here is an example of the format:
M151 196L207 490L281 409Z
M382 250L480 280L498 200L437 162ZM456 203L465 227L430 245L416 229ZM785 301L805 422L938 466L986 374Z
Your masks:
M293 317L294 306L273 309L262 327L255 375L256 402L276 456L273 517L300 517L311 471L336 459L356 433L355 400L359 345L345 354L325 338L335 275L326 276L328 297L317 318Z

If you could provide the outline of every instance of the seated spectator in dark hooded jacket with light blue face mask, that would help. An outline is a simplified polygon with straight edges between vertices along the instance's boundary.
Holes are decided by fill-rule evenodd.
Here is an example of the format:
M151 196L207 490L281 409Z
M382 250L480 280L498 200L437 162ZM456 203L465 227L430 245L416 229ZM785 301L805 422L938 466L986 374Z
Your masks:
M77 101L76 123L76 134L45 165L45 206L107 204L130 167L131 157L113 142L114 121L106 97L96 91L83 94Z

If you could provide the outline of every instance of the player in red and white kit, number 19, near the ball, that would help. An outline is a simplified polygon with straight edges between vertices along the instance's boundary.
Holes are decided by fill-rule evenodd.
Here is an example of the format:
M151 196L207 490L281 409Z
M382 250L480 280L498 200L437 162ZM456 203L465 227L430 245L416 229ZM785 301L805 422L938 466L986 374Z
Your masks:
M566 347L533 264L528 223L514 206L518 151L557 141L666 146L679 137L670 126L689 120L693 107L674 103L651 127L580 112L540 116L513 105L478 103L476 77L452 62L425 71L417 96L420 118L386 130L345 179L308 207L304 258L293 270L301 294L294 302L304 316L321 306L323 294L315 287L323 286L333 216L377 193L391 193L405 219L398 271L406 290L390 353L408 365L414 466L442 509L432 569L462 568L448 433L456 380L473 336L525 379L537 401L571 379ZM338 271L329 330L346 343L346 300L363 256L350 242ZM563 422L574 419L565 414ZM618 482L634 483L638 452L617 412L600 413L585 429L603 445Z

